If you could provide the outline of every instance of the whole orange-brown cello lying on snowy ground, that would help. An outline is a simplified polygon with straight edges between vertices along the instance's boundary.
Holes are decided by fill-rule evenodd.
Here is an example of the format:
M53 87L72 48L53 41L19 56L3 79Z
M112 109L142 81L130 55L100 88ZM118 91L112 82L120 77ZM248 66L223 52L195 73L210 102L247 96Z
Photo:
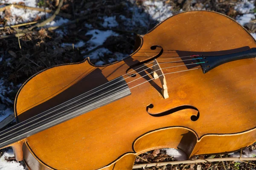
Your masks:
M31 170L131 170L137 155L164 147L189 158L239 150L256 141L255 57L235 20L177 14L138 35L122 61L86 58L30 77L0 148Z

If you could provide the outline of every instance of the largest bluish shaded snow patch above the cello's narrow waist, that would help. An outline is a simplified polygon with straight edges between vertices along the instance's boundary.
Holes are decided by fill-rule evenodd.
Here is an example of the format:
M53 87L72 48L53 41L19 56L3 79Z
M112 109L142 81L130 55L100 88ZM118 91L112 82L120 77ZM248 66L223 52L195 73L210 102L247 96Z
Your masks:
M85 35L93 35L87 43L90 43L91 47L87 48L88 50L91 50L99 45L102 45L105 40L107 40L110 36L118 36L119 34L115 33L112 30L107 31L100 31L98 29L90 30Z

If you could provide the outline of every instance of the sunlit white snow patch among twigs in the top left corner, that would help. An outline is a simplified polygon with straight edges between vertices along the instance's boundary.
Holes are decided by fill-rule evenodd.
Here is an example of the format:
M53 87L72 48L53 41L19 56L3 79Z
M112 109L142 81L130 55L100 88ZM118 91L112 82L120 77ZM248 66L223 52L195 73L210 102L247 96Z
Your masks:
M27 23L32 22L37 16L49 16L49 13L30 10L30 9L22 9L22 8L15 8L13 5L9 8L10 15L12 17L8 17L7 25L12 26L19 23ZM5 17L3 12L0 12L1 18Z

